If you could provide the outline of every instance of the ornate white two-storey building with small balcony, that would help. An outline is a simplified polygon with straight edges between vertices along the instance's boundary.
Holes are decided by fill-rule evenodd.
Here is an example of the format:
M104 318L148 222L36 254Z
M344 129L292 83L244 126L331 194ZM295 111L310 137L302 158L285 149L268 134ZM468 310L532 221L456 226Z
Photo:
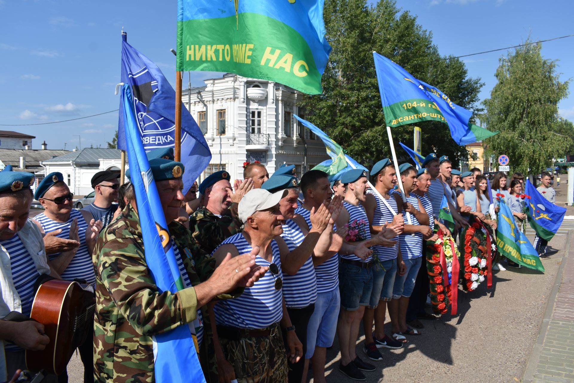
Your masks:
M282 84L227 73L205 86L183 91L184 105L205 135L211 163L200 180L219 170L243 178L243 163L259 161L271 175L281 164L294 164L301 177L329 157L309 129L297 123L300 95ZM184 112L185 113L185 112Z

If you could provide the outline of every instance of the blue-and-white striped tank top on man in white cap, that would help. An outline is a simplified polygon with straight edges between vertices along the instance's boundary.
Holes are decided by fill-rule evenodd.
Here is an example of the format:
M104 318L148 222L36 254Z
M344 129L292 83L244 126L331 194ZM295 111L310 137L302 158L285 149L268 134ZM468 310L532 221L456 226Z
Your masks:
M235 245L239 254L249 253L253 249L243 237L243 233L232 235L221 245L226 243ZM266 328L283 318L283 295L281 290L275 289L275 278L283 278L279 246L275 240L271 241L271 248L272 261L277 265L279 274L273 276L269 270L252 287L246 287L241 296L219 301L214 307L218 324L238 328ZM269 266L271 263L257 256L255 264Z

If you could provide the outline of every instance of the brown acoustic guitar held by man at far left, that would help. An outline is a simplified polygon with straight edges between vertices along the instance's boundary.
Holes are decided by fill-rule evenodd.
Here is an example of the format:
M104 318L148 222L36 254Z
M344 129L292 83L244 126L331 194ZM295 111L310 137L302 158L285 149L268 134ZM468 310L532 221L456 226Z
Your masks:
M61 374L74 350L94 325L94 291L90 285L53 279L40 285L30 318L44 324L50 342L42 351L26 350L29 370Z

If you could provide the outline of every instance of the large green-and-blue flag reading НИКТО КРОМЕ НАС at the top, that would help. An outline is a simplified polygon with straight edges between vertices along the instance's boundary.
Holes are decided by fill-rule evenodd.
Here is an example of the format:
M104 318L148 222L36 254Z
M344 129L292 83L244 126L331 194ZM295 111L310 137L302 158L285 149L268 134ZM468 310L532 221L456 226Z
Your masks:
M321 94L324 0L178 0L177 70L232 72Z

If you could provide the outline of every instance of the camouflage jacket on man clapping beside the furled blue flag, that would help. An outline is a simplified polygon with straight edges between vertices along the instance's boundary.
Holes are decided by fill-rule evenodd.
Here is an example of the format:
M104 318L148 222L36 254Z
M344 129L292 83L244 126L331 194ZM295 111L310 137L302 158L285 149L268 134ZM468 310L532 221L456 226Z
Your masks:
M207 280L213 272L215 258L200 252L191 232L179 222L169 223L168 230L183 256L191 284ZM185 257L186 248L193 254L192 259ZM152 336L196 318L195 290L186 288L161 294L157 291L145 260L139 217L129 204L118 219L100 233L93 261L96 269L94 379L114 383L153 382ZM201 310L204 342L199 357L202 363L207 363L215 356L212 353L207 356L212 335L205 307Z

